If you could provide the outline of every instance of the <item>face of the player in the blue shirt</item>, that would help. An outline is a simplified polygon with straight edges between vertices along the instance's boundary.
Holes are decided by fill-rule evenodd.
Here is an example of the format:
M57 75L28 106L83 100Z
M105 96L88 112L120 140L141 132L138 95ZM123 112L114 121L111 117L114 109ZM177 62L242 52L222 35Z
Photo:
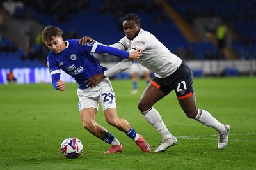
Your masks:
M52 37L51 41L45 41L45 45L53 53L61 53L65 48L65 43L63 42L62 36Z

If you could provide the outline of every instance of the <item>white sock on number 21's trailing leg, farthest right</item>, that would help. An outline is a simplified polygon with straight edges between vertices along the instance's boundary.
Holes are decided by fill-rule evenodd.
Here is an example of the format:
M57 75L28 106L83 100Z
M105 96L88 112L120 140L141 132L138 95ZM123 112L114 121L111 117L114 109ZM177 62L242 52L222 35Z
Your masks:
M212 115L208 111L201 110L199 108L195 120L198 120L199 122L207 125L208 127L213 127L218 132L224 132L226 130L225 126L214 117L212 117Z

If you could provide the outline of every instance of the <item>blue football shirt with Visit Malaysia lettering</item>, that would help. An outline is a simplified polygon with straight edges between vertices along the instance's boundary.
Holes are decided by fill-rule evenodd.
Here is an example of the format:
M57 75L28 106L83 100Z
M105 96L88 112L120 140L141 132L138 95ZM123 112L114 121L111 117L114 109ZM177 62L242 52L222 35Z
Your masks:
M86 89L88 78L95 74L100 74L106 71L107 68L100 65L100 62L93 57L92 53L109 53L118 57L129 57L129 53L112 48L109 46L100 45L98 43L86 43L81 45L77 39L64 41L66 48L61 53L49 52L47 56L47 65L52 76L52 85L54 74L60 76L60 69L65 71L74 78L78 83L79 89ZM56 85L54 85L56 88ZM56 88L57 89L57 88Z

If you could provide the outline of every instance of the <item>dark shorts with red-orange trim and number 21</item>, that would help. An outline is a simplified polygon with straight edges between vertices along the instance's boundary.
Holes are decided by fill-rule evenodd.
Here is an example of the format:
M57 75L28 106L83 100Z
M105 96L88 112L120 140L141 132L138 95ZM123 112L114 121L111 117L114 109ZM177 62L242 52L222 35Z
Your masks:
M166 78L156 77L150 83L166 95L175 90L178 99L185 99L194 93L192 79L191 68L186 62L182 61L180 67L170 76Z

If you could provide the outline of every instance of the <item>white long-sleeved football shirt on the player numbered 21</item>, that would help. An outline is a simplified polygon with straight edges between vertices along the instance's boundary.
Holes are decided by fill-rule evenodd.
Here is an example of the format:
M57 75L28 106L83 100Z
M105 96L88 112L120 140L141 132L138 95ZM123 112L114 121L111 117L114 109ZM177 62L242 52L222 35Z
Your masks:
M133 41L129 40L126 36L118 43L110 45L120 50L135 50L141 49L143 56L138 62L153 71L156 77L166 78L177 70L182 60L166 48L158 39L148 31L140 29L138 36ZM114 76L131 67L132 61L124 59L115 66L104 71L106 77Z

